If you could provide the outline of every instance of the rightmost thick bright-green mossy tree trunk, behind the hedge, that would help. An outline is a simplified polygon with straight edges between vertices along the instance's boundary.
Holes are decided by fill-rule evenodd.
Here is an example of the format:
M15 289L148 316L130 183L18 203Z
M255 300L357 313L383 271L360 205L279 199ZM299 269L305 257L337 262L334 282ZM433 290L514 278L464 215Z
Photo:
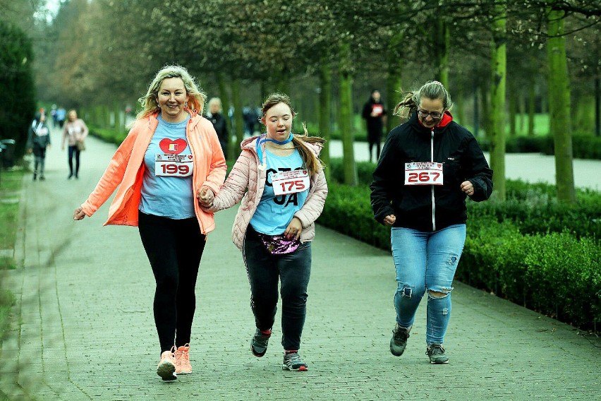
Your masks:
M549 64L549 119L555 147L557 199L576 203L574 188L572 135L570 124L570 80L566 58L564 13L549 10L547 57Z

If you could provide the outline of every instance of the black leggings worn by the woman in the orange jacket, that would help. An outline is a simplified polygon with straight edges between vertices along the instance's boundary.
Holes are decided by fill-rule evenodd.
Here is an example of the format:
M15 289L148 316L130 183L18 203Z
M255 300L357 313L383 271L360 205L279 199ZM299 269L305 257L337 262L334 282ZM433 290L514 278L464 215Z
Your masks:
M154 324L164 352L190 342L194 289L206 238L196 217L173 220L139 212L138 229L157 282Z

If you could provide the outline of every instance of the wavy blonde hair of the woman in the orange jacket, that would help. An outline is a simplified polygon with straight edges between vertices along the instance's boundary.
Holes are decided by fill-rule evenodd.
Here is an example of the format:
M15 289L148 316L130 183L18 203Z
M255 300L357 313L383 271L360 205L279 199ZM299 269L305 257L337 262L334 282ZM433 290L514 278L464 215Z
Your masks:
M138 102L142 106L140 112L135 116L135 119L144 119L150 114L154 114L161 111L159 104L157 104L157 96L159 95L159 88L166 78L181 78L183 85L186 88L186 95L188 95L188 109L202 114L202 109L205 107L205 99L207 95L202 92L202 89L196 83L195 78L190 76L188 70L182 66L164 66L159 70L154 79L150 83L146 95L140 97Z

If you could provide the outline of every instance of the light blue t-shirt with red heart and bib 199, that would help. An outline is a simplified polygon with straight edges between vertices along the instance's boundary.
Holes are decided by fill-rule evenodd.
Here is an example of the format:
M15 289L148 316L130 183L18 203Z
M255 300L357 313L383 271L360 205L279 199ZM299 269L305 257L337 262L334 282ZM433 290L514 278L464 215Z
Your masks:
M186 126L190 118L180 123L169 123L159 114L157 119L159 125L144 155L146 169L142 181L140 211L147 215L169 217L174 220L194 217L195 196L192 174L190 174L193 164L190 162L192 152L186 140ZM169 160L171 157L186 162L157 163L157 155L161 160ZM183 174L190 175L181 176Z

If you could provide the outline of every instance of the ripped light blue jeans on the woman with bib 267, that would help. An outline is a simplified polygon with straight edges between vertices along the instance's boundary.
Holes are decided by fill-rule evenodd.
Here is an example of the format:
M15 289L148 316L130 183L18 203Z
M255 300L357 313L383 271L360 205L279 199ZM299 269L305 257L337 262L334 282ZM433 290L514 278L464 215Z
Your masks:
M411 328L427 292L426 343L442 344L451 318L451 289L466 243L466 225L435 232L393 227L390 237L396 268L396 323Z

